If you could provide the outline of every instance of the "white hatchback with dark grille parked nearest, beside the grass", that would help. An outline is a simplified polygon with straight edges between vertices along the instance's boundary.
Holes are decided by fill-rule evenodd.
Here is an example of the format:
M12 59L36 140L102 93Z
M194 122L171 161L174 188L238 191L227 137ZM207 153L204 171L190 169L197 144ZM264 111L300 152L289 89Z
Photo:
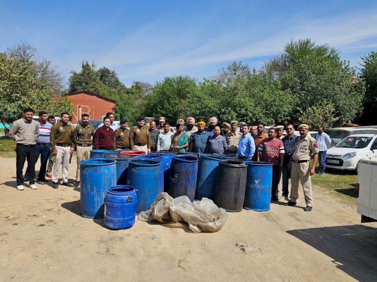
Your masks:
M377 157L377 135L353 134L327 150L326 168L356 170L361 159Z

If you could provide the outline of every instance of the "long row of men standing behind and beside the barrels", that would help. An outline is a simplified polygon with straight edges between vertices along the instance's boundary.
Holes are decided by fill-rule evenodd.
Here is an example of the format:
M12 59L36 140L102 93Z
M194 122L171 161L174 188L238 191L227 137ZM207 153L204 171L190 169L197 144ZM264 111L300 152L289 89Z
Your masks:
M72 187L68 182L69 159L76 148L77 170L76 183L80 182L80 161L88 159L90 150L138 150L150 154L155 151L169 151L172 146L173 135L176 132L170 128L165 117L160 117L159 127L151 121L150 127L144 126L144 116L136 119L136 126L128 128L128 120L122 119L120 125L114 122L114 113L109 112L103 123L97 129L89 125L89 115L82 114L81 122L73 128L68 123L69 114L61 113L61 121L54 124L54 117L46 112L39 113L39 120L32 119L33 110L24 110L24 117L16 120L10 129L9 137L16 140L17 147L17 189L24 190L24 180L29 180L29 187L37 189L35 185L35 164L41 155L41 169L37 181L47 182L45 176L51 177L51 168L47 163L55 163L52 173L52 187L58 188L58 172L62 166L62 185ZM177 127L183 127L179 134L184 132L189 136L188 146L184 151L193 153L227 154L245 161L263 161L272 164L272 190L271 199L278 201L278 183L282 177L282 197L288 200L286 205L294 206L299 197L299 181L304 189L306 208L312 210L312 189L310 176L320 153L320 174L324 174L324 160L326 150L318 150L317 141L311 137L309 126L301 124L298 127L300 136L294 134L293 124L286 127L279 125L271 127L268 135L264 133L265 126L262 122L249 127L245 122L238 123L233 120L218 125L216 117L211 117L208 124L199 121L195 125L195 118L187 117L176 120ZM54 124L54 125L53 125ZM239 130L238 130L239 125ZM283 136L284 128L287 135ZM321 147L327 147L329 137L319 128L317 135ZM331 142L331 141L330 141ZM324 144L322 146L322 144ZM183 146L182 146L183 147ZM176 147L178 148L178 147ZM180 148L179 148L180 149ZM313 164L310 166L310 159ZM28 168L23 177L25 160ZM50 164L49 164L50 167ZM291 194L289 197L289 179L292 179Z

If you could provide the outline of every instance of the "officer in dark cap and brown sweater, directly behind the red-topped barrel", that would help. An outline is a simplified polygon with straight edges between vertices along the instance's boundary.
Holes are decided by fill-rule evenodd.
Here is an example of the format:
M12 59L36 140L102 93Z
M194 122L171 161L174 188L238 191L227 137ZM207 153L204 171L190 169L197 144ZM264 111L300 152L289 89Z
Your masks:
M151 140L148 128L144 126L144 116L140 115L136 122L137 126L133 126L130 132L131 149L150 154Z

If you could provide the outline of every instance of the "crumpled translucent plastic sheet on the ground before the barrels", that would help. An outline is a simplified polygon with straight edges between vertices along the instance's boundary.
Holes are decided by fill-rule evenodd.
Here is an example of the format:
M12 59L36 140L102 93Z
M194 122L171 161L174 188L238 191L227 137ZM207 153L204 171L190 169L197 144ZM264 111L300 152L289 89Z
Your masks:
M216 232L225 225L227 218L227 212L210 199L192 203L187 196L173 199L165 192L160 193L151 207L139 216L142 221L185 222L194 233Z

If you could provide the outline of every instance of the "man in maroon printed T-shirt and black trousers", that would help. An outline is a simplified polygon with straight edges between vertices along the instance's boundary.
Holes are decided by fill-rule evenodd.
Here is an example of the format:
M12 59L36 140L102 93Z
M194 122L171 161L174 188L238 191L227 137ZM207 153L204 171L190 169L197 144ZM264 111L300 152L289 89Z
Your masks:
M268 129L268 139L262 140L259 144L257 161L272 163L272 201L278 201L279 174L284 164L284 145L276 138L276 129Z

